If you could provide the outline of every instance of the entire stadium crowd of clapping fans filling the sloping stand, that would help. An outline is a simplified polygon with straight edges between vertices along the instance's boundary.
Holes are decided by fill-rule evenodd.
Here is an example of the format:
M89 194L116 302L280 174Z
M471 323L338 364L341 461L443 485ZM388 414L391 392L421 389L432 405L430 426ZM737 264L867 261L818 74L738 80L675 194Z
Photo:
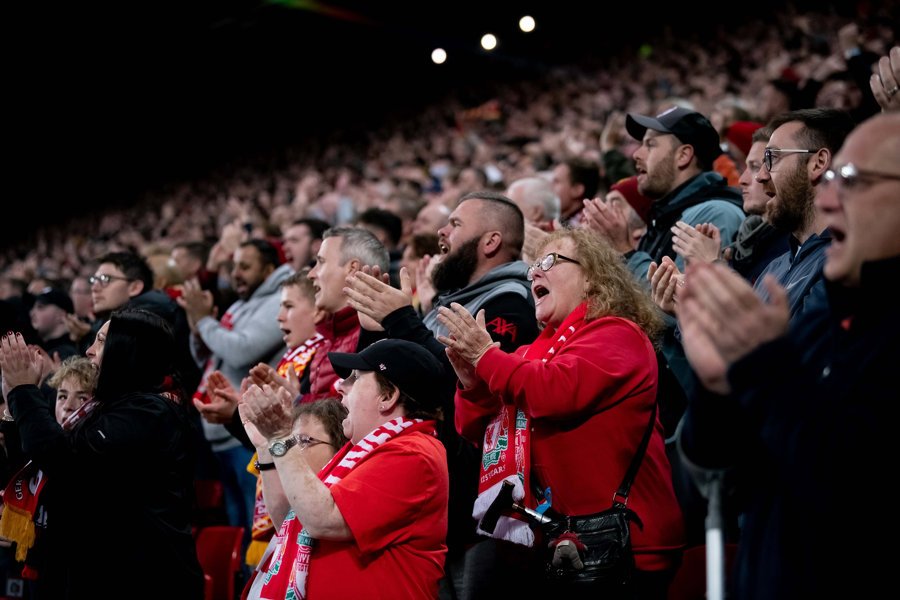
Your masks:
M243 597L673 597L721 478L734 597L884 588L835 524L892 455L895 28L662 40L38 228L9 577L202 597L214 478Z

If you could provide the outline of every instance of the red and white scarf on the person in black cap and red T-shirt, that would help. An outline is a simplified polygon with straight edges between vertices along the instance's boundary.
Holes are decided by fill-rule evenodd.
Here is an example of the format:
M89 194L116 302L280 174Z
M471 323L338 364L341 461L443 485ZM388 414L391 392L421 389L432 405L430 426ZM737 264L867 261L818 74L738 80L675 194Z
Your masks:
M348 442L335 454L319 472L319 479L330 488L362 461L369 452L383 443L392 440L410 427L437 437L435 421L408 419L400 416L378 427L366 435L356 445ZM269 556L267 565L260 565L257 573L262 576L262 585L258 587L259 597L264 600L302 600L306 598L306 581L310 576L310 559L315 542L303 528L293 510L284 517L278 536L275 538L275 551ZM256 576L255 576L256 577ZM254 581L248 586L257 587Z

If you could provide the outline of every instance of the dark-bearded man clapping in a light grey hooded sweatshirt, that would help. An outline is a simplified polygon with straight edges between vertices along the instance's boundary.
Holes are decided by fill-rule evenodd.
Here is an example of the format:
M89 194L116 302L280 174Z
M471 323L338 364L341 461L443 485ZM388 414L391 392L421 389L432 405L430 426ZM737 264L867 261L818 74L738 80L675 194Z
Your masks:
M278 266L278 252L265 240L251 239L234 253L231 285L239 300L219 320L212 315L212 295L202 291L196 282L184 284L178 303L187 313L191 326L191 354L205 368L200 387L193 395L194 403L208 401L206 377L220 371L235 390L258 363L276 366L284 354L284 332L275 317L281 294L278 284L293 269L290 264ZM229 524L250 531L257 480L247 472L253 452L244 448L229 434L225 425L202 422L203 435L219 461L225 507Z

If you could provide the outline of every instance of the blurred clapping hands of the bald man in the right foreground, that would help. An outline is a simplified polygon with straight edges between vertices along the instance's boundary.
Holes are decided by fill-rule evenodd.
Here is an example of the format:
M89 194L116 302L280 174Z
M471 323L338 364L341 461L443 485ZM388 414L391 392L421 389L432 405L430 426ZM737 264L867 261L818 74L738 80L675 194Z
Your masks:
M733 363L788 331L788 294L771 275L771 303L722 264L692 265L681 291L679 323L685 354L708 390L727 393Z

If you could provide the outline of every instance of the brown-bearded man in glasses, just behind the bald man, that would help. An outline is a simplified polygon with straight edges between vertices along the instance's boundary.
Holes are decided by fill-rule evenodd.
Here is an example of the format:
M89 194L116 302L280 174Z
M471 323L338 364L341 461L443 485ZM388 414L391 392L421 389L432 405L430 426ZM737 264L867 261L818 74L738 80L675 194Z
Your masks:
M832 237L815 201L823 192L832 157L853 126L849 114L833 108L788 112L769 123L772 137L756 179L770 197L766 207L772 227L791 235L788 252L766 267L754 289L763 301L769 300L762 279L767 273L775 277L788 291L791 318L824 297L822 266Z

